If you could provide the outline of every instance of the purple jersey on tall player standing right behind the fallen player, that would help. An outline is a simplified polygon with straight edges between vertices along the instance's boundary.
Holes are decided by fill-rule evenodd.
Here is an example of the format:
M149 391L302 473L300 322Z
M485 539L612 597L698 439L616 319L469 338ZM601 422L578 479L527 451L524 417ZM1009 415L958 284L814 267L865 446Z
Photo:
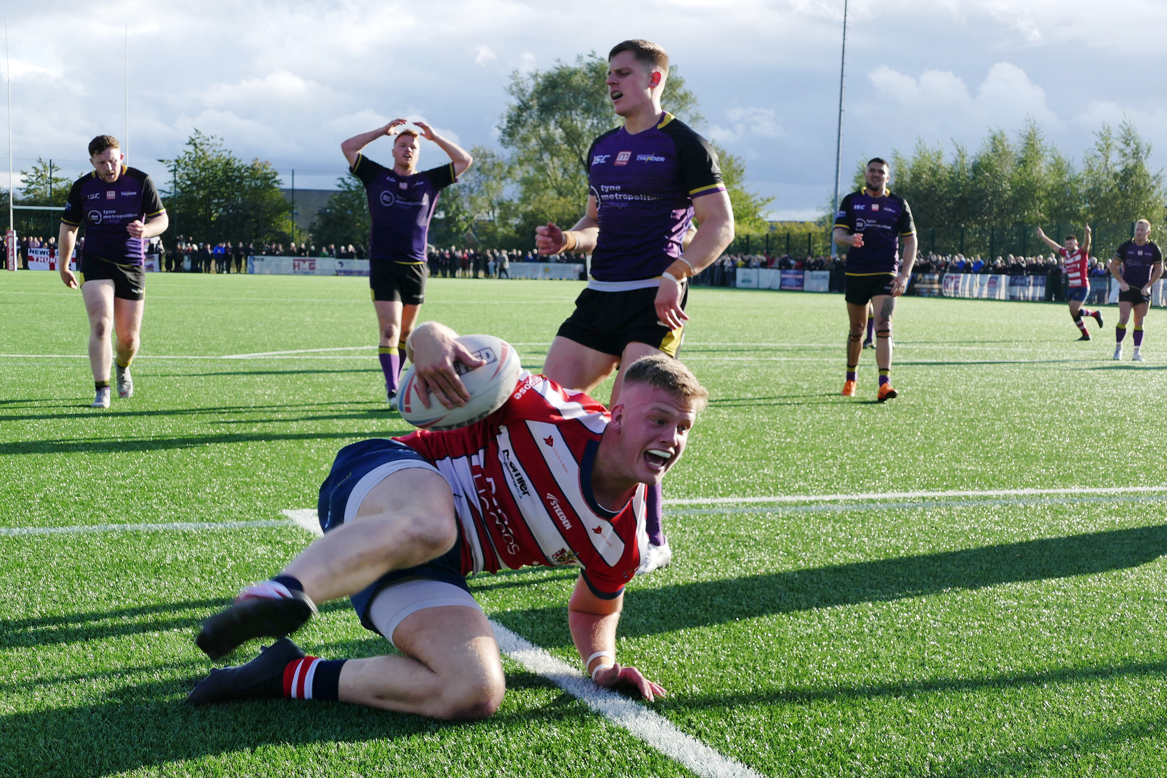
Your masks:
M659 278L682 254L693 198L726 190L717 152L669 112L635 135L623 127L600 135L587 159L600 220L596 281Z

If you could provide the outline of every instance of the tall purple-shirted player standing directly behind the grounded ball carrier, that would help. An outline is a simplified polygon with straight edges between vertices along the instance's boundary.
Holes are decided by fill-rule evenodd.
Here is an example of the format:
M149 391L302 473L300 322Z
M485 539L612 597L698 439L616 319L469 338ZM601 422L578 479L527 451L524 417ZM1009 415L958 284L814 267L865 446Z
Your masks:
M684 336L687 279L733 240L733 208L718 155L707 140L661 108L669 55L649 41L624 41L608 54L608 97L623 126L587 154L587 210L571 230L536 229L541 254L592 254L592 278L547 352L543 372L562 386L593 391L648 355L677 356ZM687 241L693 219L700 230ZM642 573L666 567L672 551L662 527L659 488L649 490L651 555Z

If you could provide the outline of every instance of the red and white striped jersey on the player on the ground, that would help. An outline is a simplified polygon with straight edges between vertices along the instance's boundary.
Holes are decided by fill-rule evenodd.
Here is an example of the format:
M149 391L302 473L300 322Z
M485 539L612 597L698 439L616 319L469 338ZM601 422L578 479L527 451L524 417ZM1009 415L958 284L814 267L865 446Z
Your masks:
M616 513L592 495L592 463L609 419L587 394L524 371L503 407L482 421L394 440L449 482L463 573L581 567L592 591L612 598L648 552L648 533L643 484Z

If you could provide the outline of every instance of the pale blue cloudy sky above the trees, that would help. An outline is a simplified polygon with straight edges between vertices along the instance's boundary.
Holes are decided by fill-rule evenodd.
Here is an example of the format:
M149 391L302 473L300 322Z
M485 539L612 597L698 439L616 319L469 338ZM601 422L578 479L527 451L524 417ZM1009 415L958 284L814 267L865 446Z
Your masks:
M165 176L155 160L197 127L295 169L298 188L330 188L340 142L398 115L496 145L510 73L647 37L776 217L812 218L832 188L843 0L4 5L18 169L41 156L82 173L91 136L124 134L125 28L133 164ZM1027 115L1079 160L1127 117L1165 164L1167 38L1144 31L1165 22L1161 0L851 0L845 171L917 138L976 146Z

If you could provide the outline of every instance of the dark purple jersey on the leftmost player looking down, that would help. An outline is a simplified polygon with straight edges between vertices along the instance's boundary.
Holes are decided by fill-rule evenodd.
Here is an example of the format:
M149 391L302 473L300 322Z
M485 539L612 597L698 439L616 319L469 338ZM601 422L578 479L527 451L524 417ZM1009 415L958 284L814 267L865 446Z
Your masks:
M165 210L151 177L121 166L113 183L102 181L96 170L75 181L61 220L74 227L85 225L84 253L118 265L141 265L149 239L131 238L126 225Z

